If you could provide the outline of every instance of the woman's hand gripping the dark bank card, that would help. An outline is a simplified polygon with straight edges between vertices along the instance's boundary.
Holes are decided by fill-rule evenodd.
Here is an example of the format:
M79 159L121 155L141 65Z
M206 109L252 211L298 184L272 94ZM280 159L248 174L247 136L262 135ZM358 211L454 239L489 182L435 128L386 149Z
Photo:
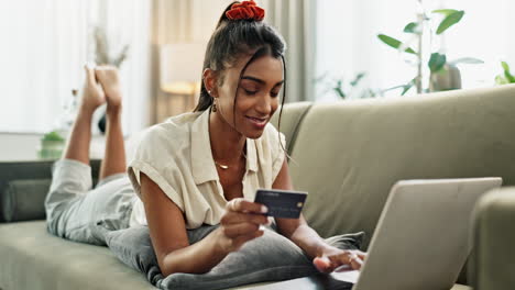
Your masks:
M218 244L226 253L238 250L244 243L260 237L260 225L267 224L266 208L244 199L233 199L226 207L221 217Z

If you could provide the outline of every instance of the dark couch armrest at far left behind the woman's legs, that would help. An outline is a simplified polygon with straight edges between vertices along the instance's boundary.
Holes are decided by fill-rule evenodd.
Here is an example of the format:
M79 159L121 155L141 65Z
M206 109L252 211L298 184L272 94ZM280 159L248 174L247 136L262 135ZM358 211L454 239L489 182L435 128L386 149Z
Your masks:
M53 160L0 163L0 222L6 222L4 217L7 214L13 216L13 212L18 212L14 215L20 217L14 217L14 220L44 219L44 215L41 215L42 212L44 213L43 202L46 197L47 188L44 189L43 192L20 192L20 194L8 189L10 186L12 188L12 185L19 185L20 182L33 185L33 188L41 188L37 187L39 185L50 186L53 164ZM98 176L99 167L100 160L91 160L94 177ZM94 178L94 180L96 180L96 178ZM24 188L31 187L25 186ZM12 194L17 197L13 198ZM36 194L37 197L35 197ZM31 204L31 202L37 202L39 204ZM20 210L24 212L19 212Z

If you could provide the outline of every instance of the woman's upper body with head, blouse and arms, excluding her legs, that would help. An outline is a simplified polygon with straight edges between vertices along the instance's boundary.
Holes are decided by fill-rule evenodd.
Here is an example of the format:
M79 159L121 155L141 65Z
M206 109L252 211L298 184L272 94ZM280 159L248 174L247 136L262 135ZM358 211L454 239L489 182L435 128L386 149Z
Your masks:
M206 51L194 113L146 132L129 167L162 272L206 272L263 234L258 188L292 190L284 137L269 124L285 85L284 41L253 1L223 12ZM281 136L281 137L280 137ZM142 214L144 212L144 214ZM135 213L138 215L138 213ZM320 271L360 268L362 255L329 246L305 219L276 219ZM220 224L199 243L186 230Z

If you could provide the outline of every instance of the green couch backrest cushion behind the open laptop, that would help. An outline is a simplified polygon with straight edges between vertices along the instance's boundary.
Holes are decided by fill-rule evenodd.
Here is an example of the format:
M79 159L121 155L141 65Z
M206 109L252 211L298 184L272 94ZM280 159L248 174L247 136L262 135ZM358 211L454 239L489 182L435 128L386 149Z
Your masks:
M515 183L515 86L311 107L291 175L322 236L375 228L402 179L500 176Z

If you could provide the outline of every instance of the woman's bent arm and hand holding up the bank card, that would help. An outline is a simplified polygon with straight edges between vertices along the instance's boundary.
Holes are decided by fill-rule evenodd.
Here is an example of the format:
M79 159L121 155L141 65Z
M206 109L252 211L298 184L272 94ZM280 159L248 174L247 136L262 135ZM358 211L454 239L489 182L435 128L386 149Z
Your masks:
M261 214L261 205L234 199L228 203L220 227L190 245L180 209L146 175L141 174L140 178L152 245L165 277L174 272L207 272L229 253L263 235L259 226L267 220Z

